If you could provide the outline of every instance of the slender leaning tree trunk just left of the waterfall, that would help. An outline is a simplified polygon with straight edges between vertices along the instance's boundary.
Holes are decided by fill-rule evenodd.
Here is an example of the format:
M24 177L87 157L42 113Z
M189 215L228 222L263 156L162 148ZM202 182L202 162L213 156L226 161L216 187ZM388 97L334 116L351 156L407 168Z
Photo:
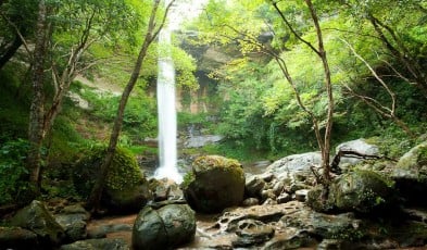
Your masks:
M140 47L138 59L134 65L134 70L131 72L130 78L128 83L126 84L125 89L123 90L122 98L117 108L117 115L114 120L114 125L113 129L110 136L110 142L106 149L106 154L105 159L102 162L102 165L100 167L100 174L97 178L97 182L92 188L92 191L90 193L90 197L87 201L87 207L92 210L92 212L97 212L100 209L100 200L101 200L101 195L103 191L103 187L105 185L105 177L109 172L109 167L111 165L111 162L114 158L115 149L117 146L117 140L118 136L122 129L122 124L123 124L123 116L124 116L124 110L126 108L127 100L130 96L131 90L135 87L135 84L137 83L137 79L139 77L143 60L146 59L147 52L151 43L154 41L156 36L159 35L160 30L162 29L166 16L168 13L169 8L174 3L174 0L169 1L169 3L166 5L166 10L163 13L163 17L160 21L160 24L156 24L156 18L159 15L161 15L161 11L159 10L160 5L160 0L154 0L153 5L151 9L151 14L149 17L148 22L148 27L143 36L143 42Z

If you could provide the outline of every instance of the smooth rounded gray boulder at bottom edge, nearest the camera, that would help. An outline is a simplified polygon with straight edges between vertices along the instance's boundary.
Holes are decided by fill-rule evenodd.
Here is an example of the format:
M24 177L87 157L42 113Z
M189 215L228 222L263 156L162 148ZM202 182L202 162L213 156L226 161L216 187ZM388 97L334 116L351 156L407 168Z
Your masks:
M194 237L196 216L187 204L143 208L134 224L133 248L171 249Z

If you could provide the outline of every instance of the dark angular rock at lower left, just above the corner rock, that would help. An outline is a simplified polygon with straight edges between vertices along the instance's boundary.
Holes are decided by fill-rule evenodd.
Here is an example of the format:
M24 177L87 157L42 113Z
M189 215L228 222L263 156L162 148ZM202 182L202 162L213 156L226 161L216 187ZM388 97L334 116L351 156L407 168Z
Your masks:
M64 228L55 222L43 202L37 200L17 211L11 225L36 233L39 242L47 247L58 246L65 238Z

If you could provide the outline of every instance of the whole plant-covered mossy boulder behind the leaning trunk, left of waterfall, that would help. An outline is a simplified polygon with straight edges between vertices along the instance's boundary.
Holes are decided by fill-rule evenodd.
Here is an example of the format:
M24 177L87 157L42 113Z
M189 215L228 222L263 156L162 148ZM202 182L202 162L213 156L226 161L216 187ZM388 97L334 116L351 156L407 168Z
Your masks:
M100 173L105 157L104 147L95 147L83 153L73 171L76 191L87 198ZM102 203L120 212L139 211L152 195L149 184L130 152L117 148L106 175Z

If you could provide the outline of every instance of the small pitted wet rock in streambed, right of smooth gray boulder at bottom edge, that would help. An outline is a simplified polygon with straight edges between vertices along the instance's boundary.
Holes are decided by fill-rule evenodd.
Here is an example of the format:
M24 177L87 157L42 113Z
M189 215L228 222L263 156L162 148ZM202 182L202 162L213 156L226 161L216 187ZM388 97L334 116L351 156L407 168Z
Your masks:
M255 220L242 220L237 224L237 240L233 241L234 247L248 247L267 241L274 235L274 228L263 222Z

